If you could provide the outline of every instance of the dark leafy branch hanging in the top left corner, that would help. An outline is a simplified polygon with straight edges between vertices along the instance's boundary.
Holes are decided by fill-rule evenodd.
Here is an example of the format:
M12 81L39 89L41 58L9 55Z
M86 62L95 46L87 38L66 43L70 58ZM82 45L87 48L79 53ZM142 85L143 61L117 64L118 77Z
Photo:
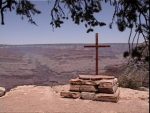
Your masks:
M0 12L1 12L1 24L4 25L4 12L11 12L12 9L16 9L16 14L28 18L31 24L37 25L33 20L32 15L40 14L41 12L35 8L35 5L28 0L0 0Z

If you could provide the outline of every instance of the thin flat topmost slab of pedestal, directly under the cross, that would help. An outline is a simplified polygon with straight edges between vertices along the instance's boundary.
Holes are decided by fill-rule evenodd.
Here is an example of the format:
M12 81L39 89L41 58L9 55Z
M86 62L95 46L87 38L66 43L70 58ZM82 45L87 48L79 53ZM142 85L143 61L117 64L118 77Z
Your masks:
M114 79L114 76L107 75L79 75L79 79L83 80L101 80L101 79Z

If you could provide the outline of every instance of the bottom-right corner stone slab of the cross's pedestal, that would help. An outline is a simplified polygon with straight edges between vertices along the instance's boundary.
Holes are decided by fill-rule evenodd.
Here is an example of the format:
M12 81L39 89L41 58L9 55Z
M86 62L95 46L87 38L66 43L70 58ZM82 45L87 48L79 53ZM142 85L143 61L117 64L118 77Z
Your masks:
M98 93L95 95L93 100L105 101L105 102L118 102L119 95L120 95L120 90L117 89L117 91L114 94Z

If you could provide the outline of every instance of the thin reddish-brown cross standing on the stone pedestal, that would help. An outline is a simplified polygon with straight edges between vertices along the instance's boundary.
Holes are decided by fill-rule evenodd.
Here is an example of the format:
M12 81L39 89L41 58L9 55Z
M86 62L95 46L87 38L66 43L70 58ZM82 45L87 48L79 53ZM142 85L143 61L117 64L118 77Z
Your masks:
M84 47L95 47L96 48L96 75L98 75L98 48L99 47L110 47L110 45L98 45L98 33L96 33L96 43L95 45L87 45Z

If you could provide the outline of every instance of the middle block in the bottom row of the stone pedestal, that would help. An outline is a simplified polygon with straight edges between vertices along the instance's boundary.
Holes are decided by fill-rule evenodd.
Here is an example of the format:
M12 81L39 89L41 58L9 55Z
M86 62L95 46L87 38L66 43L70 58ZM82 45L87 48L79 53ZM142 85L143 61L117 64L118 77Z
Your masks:
M91 92L81 92L81 99L94 100L95 93Z

